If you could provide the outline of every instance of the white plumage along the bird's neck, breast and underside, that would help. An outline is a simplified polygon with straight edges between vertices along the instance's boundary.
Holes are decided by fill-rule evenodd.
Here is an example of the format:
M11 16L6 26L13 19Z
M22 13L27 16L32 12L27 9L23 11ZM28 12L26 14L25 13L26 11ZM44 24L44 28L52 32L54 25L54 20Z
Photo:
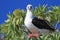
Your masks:
M28 5L28 7L30 7L30 5ZM47 30L47 29L39 29L36 26L34 26L32 24L32 19L33 18L34 18L34 15L32 14L32 10L29 10L27 8L27 14L26 14L24 24L30 30L30 32L32 32L32 33L40 32L41 34L43 34L43 33L49 34L49 32L50 32L49 30Z

